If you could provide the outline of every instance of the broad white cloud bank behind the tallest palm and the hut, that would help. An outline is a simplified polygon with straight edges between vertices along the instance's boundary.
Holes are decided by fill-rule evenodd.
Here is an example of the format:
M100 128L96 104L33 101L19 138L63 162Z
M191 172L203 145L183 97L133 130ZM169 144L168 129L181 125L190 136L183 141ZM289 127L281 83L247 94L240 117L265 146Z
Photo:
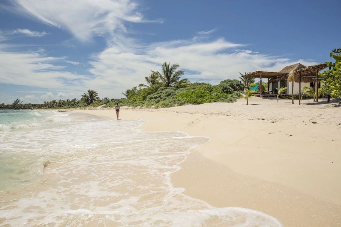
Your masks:
M294 59L259 54L255 51L235 51L235 44L224 39L207 42L193 40L177 40L154 43L143 50L133 47L121 48L118 45L108 47L93 56L89 62L89 70L97 76L95 84L103 89L115 87L115 95L125 89L144 82L150 70L161 70L161 64L166 62L180 64L185 76L192 82L204 81L217 84L224 79L238 79L239 72L256 70L278 72L284 66L298 62ZM299 60L304 65L316 62Z

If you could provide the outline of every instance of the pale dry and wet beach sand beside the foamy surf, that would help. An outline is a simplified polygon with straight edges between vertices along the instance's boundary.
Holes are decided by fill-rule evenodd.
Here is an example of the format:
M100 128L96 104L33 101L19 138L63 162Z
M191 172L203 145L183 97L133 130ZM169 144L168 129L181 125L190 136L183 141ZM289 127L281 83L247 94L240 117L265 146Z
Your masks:
M116 118L112 109L73 111ZM211 138L172 175L191 197L258 210L284 226L341 226L341 104L335 100L122 107L120 118L149 120L145 131Z

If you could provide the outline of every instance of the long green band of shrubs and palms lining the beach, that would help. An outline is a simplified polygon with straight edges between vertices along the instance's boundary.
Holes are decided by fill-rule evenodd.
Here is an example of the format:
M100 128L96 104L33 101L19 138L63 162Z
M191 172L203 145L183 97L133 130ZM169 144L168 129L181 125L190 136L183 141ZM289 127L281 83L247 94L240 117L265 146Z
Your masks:
M207 83L190 83L178 70L179 65L164 62L161 73L151 71L145 77L146 83L126 90L123 99L100 99L98 93L88 90L81 99L52 100L43 104L22 104L17 99L13 104L0 104L2 109L47 109L47 108L84 108L84 107L114 107L116 103L121 106L132 107L172 107L187 104L202 104L211 102L235 102L244 89L244 83L239 80L223 80L219 85ZM248 81L254 82L254 81Z

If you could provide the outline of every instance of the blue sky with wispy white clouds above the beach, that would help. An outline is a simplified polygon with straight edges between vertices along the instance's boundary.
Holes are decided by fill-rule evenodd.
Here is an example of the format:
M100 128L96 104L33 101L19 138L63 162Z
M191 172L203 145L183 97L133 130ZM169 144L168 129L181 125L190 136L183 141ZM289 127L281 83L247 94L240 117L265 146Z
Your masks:
M191 82L331 61L340 0L1 0L0 103L120 98L163 62Z

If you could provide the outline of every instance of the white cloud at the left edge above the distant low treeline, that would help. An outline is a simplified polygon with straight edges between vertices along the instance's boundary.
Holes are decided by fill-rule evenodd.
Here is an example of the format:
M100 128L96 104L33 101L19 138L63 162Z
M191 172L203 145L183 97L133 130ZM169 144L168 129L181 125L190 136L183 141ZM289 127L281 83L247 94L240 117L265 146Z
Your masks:
M85 75L64 71L65 57L49 57L43 52L13 52L0 45L0 83L43 88L75 88Z

